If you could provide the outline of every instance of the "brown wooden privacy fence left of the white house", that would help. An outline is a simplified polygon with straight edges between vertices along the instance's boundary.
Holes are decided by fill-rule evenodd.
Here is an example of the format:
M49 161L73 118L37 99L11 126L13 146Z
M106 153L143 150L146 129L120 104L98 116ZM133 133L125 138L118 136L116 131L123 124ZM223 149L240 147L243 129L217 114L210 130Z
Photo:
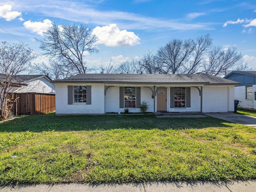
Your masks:
M40 115L55 111L55 94L14 93L12 111L15 115Z

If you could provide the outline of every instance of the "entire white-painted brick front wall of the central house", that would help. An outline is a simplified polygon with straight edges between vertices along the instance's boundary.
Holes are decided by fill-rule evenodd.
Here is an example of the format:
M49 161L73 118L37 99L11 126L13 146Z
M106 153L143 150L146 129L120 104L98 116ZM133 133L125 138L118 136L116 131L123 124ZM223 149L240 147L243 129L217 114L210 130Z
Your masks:
M104 95L104 84L91 84L92 104L68 105L68 85L70 84L56 84L56 115L124 112L124 108L119 108L119 86L108 88L106 95ZM153 87L151 88L153 89ZM167 110L169 112L200 112L200 98L199 91L196 88L191 87L191 107L170 108L170 87L167 87ZM204 86L203 112L234 111L234 99L237 98L234 98L233 86ZM148 102L149 108L147 112L154 111L154 99L152 99L152 92L149 88L143 86L141 87L141 102L142 101ZM140 112L140 108L129 108L129 112Z

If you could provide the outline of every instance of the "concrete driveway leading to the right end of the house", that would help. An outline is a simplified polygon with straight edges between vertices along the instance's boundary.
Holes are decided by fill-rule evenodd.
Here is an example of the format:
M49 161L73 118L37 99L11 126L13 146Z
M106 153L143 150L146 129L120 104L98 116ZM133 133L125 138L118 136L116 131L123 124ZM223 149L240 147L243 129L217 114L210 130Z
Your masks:
M204 113L204 115L209 117L214 117L218 119L223 119L230 121L232 123L239 123L247 126L256 127L256 118L246 115L241 115L237 113Z

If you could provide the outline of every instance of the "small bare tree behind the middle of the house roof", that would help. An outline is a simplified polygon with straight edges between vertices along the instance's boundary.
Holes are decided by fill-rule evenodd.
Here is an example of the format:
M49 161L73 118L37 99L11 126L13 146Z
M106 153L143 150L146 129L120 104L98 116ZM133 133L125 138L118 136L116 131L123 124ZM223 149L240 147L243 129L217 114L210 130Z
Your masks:
M118 67L118 72L120 73L142 73L140 62L132 58L131 61L122 62Z

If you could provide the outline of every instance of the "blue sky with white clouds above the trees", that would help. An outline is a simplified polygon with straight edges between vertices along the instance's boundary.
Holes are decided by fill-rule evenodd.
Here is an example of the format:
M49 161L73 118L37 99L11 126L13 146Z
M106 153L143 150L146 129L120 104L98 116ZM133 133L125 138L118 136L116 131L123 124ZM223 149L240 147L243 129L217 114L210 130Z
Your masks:
M156 52L168 41L210 34L214 45L237 46L256 68L256 0L1 0L0 41L26 42L51 25L87 24L98 36L88 66L117 65ZM40 61L44 61L41 58Z

